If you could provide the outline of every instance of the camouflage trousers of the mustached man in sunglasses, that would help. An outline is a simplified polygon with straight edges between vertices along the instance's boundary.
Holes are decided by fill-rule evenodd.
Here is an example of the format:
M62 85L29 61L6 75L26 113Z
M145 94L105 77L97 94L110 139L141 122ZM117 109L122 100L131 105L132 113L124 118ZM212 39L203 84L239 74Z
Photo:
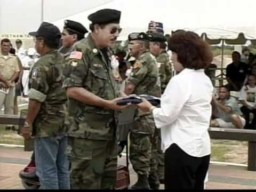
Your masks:
M71 189L114 189L117 142L69 137Z

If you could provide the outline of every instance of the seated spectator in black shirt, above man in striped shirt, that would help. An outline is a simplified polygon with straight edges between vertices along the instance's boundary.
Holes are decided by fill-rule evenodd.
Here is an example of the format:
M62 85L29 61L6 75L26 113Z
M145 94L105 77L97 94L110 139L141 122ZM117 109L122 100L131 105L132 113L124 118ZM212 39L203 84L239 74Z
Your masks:
M240 61L241 55L239 52L232 53L233 62L227 66L226 77L228 84L226 85L230 91L240 91L244 79L247 74L246 64Z

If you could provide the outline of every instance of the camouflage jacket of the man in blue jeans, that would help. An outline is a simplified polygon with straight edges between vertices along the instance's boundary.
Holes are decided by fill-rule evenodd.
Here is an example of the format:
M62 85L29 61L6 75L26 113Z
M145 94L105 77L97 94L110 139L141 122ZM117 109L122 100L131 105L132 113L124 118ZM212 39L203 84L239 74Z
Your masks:
M33 123L35 137L52 137L66 133L64 126L67 97L62 89L63 55L52 50L43 55L29 74L31 100L41 102Z

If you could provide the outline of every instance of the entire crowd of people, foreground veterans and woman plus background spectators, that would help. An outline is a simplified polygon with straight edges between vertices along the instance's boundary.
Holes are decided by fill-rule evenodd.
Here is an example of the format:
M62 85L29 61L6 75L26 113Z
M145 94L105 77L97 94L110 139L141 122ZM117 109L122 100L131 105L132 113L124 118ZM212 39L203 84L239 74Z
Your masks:
M2 39L0 106L14 114L15 90L22 90L29 105L21 133L35 139L22 177L38 177L42 189L115 189L117 155L129 137L138 175L130 189L159 189L160 183L165 189L203 189L209 125L254 129L256 64L250 50L242 58L233 52L228 85L213 94L205 74L213 54L197 34L177 30L165 36L163 23L150 21L146 32L129 34L128 54L113 52L120 18L118 10L92 13L90 33L76 21L65 20L62 32L42 22L29 33L35 48L27 51L18 39L12 52L10 40ZM233 90L240 91L238 99L230 97ZM145 99L135 106L117 104L134 94L161 98L161 106ZM117 116L132 108L133 123L124 131Z

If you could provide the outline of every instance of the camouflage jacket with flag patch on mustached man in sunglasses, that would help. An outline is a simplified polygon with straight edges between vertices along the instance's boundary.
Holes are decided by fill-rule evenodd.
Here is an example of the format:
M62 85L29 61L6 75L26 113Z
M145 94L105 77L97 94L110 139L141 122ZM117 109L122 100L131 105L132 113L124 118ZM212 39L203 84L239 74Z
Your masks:
M91 35L74 45L65 61L63 88L78 86L106 100L119 95L109 51L98 49ZM107 57L106 57L107 56ZM111 140L115 135L114 110L68 99L68 135L94 140Z

